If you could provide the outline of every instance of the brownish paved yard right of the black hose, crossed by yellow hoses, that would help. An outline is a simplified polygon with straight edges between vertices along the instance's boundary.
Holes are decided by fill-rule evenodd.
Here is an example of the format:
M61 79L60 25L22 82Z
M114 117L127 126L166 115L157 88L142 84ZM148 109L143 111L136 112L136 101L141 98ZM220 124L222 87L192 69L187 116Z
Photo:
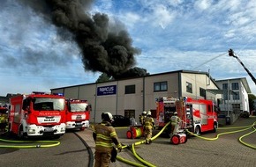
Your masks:
M110 163L110 167L139 165L254 167L256 166L256 132L252 127L254 122L256 122L255 116L248 119L239 118L232 125L219 127L216 133L200 134L200 137L189 136L187 142L178 145L171 144L168 137L160 135L150 145L144 143L136 145L133 152L132 143L139 143L144 139L142 137L127 139L126 132L129 127L117 127L120 142L129 147L118 153L117 162ZM153 135L158 133L158 130L154 130ZM76 132L76 134L87 145L88 156L90 156L88 166L93 166L95 145L92 130L87 128L85 131Z

